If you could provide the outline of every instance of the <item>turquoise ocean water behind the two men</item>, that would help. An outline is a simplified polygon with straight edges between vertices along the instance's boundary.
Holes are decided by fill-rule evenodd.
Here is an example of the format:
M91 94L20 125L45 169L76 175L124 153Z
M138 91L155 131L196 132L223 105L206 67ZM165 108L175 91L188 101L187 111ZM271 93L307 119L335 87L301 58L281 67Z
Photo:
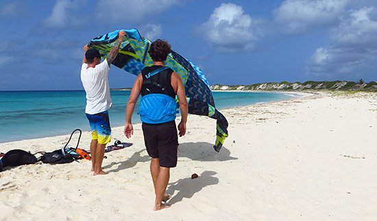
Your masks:
M110 125L124 125L130 91L111 91ZM274 92L213 92L217 109L291 98ZM0 92L0 143L89 130L84 91ZM133 122L140 122L135 107ZM215 121L214 121L215 122Z

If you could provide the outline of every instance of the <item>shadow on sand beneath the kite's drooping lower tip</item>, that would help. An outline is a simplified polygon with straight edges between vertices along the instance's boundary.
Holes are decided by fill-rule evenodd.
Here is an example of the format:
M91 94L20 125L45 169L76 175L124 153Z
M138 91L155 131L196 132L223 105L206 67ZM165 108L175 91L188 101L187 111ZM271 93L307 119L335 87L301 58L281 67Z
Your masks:
M187 157L197 161L227 161L238 159L230 156L230 151L223 146L219 153L213 149L213 144L208 142L188 142L178 146L178 161L180 157Z

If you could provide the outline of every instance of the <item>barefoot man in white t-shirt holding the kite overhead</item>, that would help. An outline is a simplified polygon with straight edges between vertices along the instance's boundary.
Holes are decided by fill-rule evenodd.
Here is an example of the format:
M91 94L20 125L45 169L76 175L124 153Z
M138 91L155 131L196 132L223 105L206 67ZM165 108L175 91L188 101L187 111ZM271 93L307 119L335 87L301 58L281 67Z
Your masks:
M86 92L85 114L92 131L92 141L90 142L92 168L90 171L93 172L93 175L106 174L102 170L102 161L106 144L111 140L108 109L112 105L108 71L110 64L118 55L124 36L125 31L119 31L117 43L108 53L104 62L101 62L101 55L97 49L89 49L88 45L84 46L85 55L82 60L81 81Z

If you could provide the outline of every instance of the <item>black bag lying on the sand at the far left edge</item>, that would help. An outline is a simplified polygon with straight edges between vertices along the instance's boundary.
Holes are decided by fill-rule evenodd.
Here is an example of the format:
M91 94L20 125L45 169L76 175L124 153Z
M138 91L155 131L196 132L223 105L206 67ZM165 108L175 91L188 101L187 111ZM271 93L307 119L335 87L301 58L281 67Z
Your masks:
M26 164L35 164L37 161L36 156L29 152L15 149L8 151L0 159L0 171L3 171L5 166L21 166Z

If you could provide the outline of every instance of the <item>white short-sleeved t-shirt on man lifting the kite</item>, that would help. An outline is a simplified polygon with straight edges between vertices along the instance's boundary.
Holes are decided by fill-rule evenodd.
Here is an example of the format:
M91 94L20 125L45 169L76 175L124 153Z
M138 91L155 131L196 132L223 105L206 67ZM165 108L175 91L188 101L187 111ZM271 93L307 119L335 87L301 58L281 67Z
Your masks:
M86 92L86 114L98 114L111 107L109 70L110 67L106 59L94 68L88 68L88 64L82 64L81 81Z

